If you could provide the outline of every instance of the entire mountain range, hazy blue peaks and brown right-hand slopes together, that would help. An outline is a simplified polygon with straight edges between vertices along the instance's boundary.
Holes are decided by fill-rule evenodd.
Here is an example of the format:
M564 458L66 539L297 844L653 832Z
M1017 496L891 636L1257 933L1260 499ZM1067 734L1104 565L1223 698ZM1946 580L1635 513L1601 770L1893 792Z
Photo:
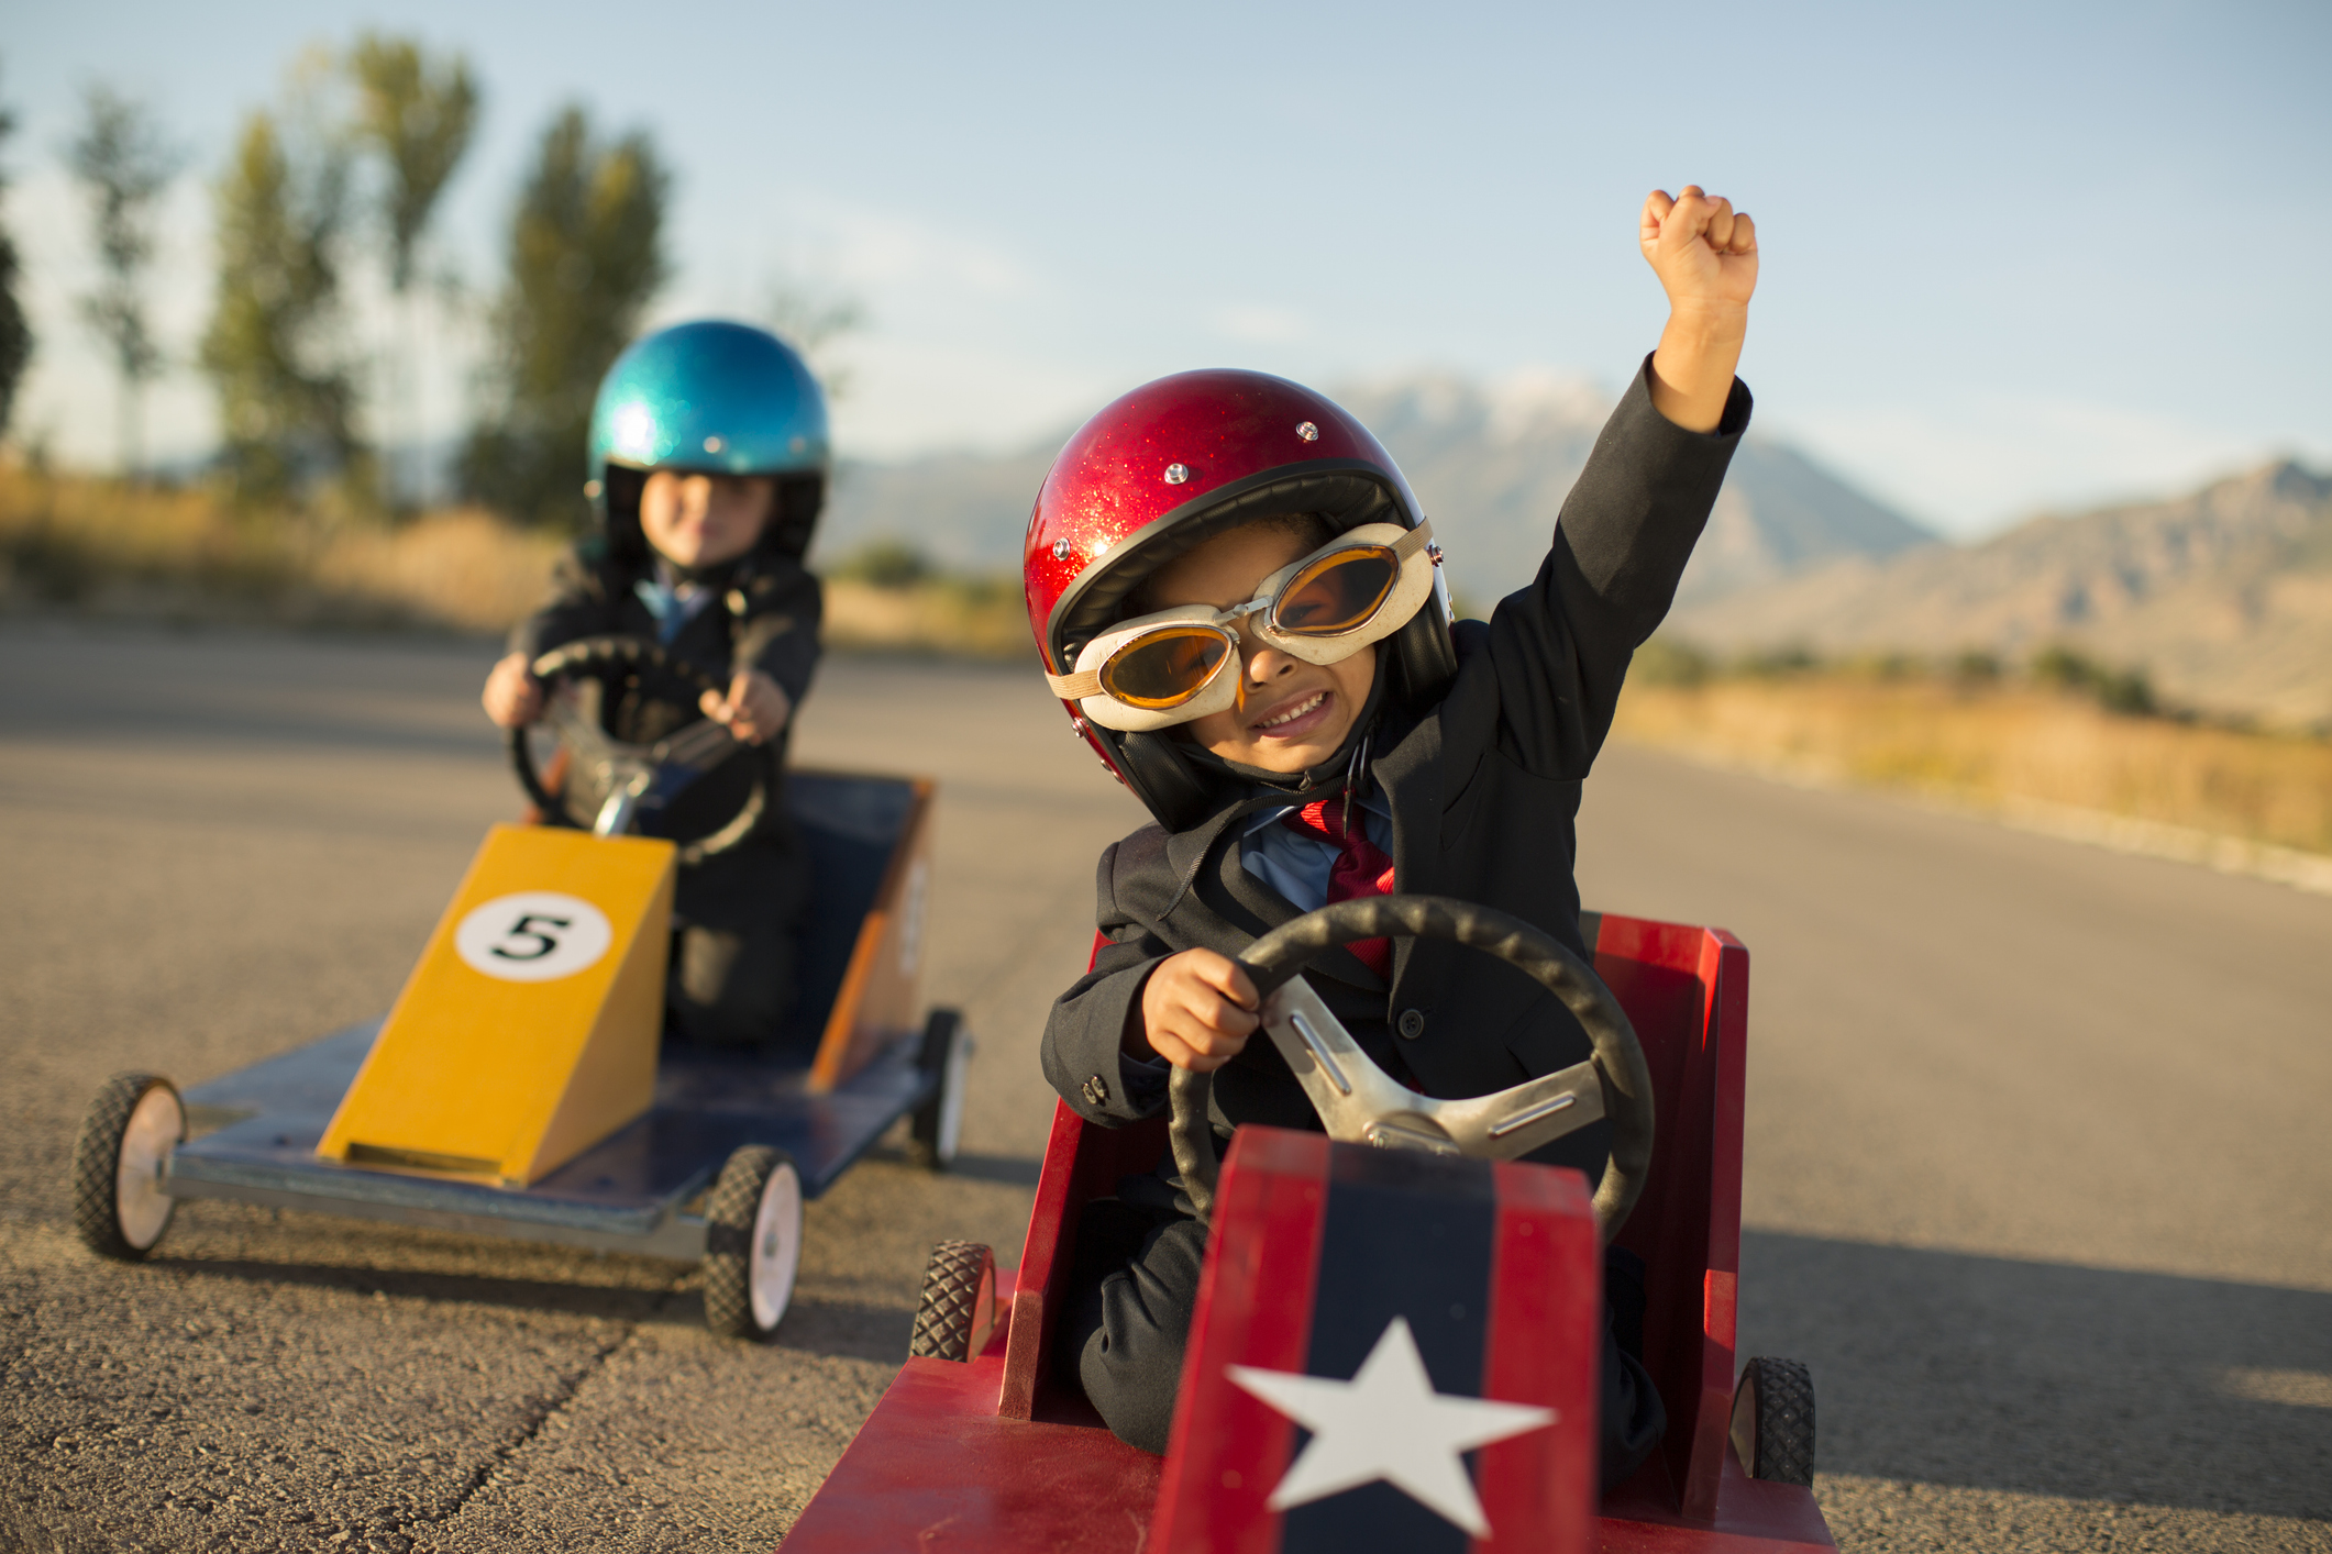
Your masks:
M1611 410L1560 377L1418 375L1353 384L1339 401L1402 464L1471 613L1537 571ZM1066 440L1063 429L1007 454L847 464L821 552L898 538L958 571L1014 573L1028 506ZM2332 729L2332 480L2278 461L2169 501L2043 515L1952 545L1751 431L1667 629L1721 652L2017 662L2064 643L2143 669L2178 706Z

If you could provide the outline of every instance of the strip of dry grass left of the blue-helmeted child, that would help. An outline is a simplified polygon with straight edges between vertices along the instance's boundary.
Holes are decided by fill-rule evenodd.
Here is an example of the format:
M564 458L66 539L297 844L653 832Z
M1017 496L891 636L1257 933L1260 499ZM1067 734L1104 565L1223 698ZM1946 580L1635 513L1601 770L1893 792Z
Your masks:
M541 599L560 541L490 513L403 524L236 513L0 466L0 603L96 615L501 631Z

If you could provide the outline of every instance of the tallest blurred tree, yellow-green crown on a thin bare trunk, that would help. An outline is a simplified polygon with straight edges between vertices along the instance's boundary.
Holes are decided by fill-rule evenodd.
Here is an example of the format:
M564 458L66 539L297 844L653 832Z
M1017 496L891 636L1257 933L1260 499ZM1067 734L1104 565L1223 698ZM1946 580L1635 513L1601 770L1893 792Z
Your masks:
M357 40L347 56L357 84L354 133L382 163L380 219L389 238L389 296L403 333L401 380L408 415L403 433L415 450L415 492L427 496L427 454L420 452L420 370L415 361L413 280L422 235L438 196L478 128L478 86L459 54L429 58L406 37L375 33Z

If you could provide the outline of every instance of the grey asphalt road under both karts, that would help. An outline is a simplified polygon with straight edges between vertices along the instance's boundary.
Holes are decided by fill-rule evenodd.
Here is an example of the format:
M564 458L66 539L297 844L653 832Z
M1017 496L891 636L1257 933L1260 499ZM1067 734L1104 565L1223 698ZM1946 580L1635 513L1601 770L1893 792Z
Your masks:
M777 1344L688 1270L198 1202L75 1244L82 1107L380 1011L515 794L490 650L0 627L0 1547L765 1549L1017 1249L1138 815L1031 676L833 662L800 757L942 783L963 1170L812 1205ZM2332 1549L2332 902L1607 753L1581 881L1751 946L1744 1347L1814 1368L1849 1549ZM1007 1251L1007 1256L1012 1256Z

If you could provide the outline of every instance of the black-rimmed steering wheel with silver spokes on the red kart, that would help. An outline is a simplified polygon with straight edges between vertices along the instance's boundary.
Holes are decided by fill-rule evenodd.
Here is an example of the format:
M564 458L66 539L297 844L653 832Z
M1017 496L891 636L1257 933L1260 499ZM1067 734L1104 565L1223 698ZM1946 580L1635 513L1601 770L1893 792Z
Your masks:
M1495 1095L1418 1095L1376 1067L1311 983L1297 976L1339 944L1390 934L1453 939L1527 972L1579 1016L1595 1055ZM1513 1160L1609 1116L1611 1158L1595 1186L1595 1228L1609 1244L1628 1223L1651 1165L1651 1069L1644 1067L1644 1046L1602 979L1530 923L1439 895L1360 897L1283 923L1250 944L1238 965L1264 999L1262 1018L1271 1044L1294 1069L1332 1139ZM1213 1088L1210 1074L1180 1067L1166 1083L1173 1160L1199 1221L1215 1207L1217 1165L1208 1123Z

